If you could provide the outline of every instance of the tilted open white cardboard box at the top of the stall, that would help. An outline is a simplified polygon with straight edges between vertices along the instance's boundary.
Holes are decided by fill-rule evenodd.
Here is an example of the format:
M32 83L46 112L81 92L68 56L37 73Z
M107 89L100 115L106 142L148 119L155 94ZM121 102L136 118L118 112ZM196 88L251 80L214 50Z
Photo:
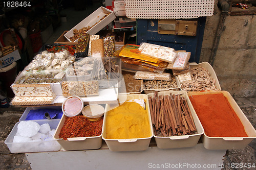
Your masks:
M108 16L100 20L104 15L107 13L110 13ZM74 36L73 30L79 30L83 27L92 27L97 23L95 26L93 26L89 31L87 31L87 34L95 35L97 32L99 32L101 29L103 29L105 26L107 26L110 22L112 22L116 18L113 11L106 9L104 7L99 7L96 11L94 11L92 14L90 14L88 17L83 19L81 22L78 23L75 27L73 27L69 32L64 34L64 36L70 41L70 38ZM75 40L75 42L78 39Z

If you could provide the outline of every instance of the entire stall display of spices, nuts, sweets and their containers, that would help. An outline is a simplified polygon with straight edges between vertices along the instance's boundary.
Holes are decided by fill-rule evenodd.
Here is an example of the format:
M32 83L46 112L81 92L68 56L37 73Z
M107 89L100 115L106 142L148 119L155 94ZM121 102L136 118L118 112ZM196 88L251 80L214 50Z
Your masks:
M80 22L65 34L76 45L46 45L16 77L11 104L26 110L5 141L12 153L189 150L200 142L228 150L256 138L209 63L189 62L191 52L161 43L117 50L114 34L90 34L113 21L104 10L94 25ZM215 139L225 140L208 147Z

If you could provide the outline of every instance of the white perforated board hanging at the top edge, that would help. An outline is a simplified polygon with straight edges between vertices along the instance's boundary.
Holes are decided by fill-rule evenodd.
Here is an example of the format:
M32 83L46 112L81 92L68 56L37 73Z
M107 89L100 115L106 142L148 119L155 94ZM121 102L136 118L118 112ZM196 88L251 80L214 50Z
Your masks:
M125 13L136 19L179 19L211 16L214 0L124 0Z

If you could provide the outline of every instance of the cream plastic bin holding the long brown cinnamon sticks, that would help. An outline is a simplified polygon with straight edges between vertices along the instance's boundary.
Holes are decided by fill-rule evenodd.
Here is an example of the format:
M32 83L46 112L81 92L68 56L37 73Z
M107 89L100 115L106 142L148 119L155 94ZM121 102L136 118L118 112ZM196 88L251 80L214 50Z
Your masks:
M169 91L160 91L158 92L158 95L169 95L170 93L182 94L182 96L184 96L184 98L187 101L188 107L191 111L191 114L193 116L197 132L196 134L193 134L193 135L179 135L179 136L167 136L167 137L160 137L154 134L157 147L160 149L194 147L198 143L201 135L204 133L203 126L188 98L187 92L169 90ZM147 96L148 98L149 97L154 98L154 93L147 94Z

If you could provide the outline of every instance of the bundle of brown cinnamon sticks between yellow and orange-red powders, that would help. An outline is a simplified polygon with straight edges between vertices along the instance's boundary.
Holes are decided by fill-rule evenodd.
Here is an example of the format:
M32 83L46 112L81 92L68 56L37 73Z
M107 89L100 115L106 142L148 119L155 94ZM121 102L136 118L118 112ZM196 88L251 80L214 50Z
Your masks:
M157 136L190 135L196 132L193 116L182 94L163 96L156 91L154 97L148 100Z

